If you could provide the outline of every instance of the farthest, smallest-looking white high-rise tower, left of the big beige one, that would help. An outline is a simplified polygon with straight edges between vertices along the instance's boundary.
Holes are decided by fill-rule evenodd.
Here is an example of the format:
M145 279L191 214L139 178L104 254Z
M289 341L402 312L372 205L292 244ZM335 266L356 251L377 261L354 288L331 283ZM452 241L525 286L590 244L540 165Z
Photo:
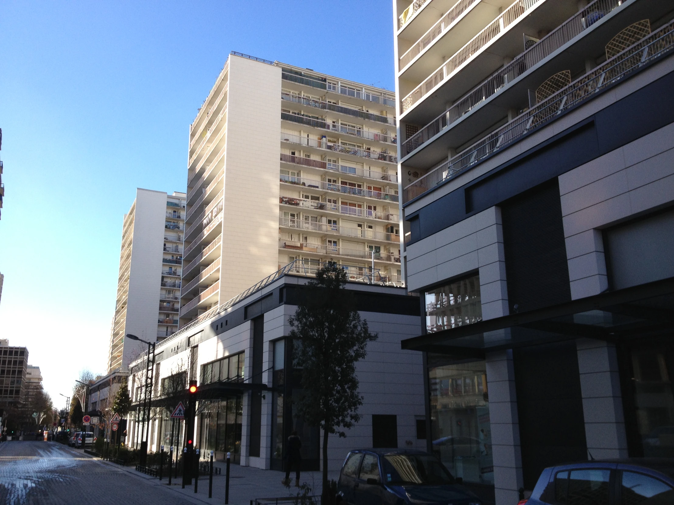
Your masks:
M185 196L139 188L124 215L110 372L126 370L144 349L142 343L125 340L127 333L155 341L178 329Z

